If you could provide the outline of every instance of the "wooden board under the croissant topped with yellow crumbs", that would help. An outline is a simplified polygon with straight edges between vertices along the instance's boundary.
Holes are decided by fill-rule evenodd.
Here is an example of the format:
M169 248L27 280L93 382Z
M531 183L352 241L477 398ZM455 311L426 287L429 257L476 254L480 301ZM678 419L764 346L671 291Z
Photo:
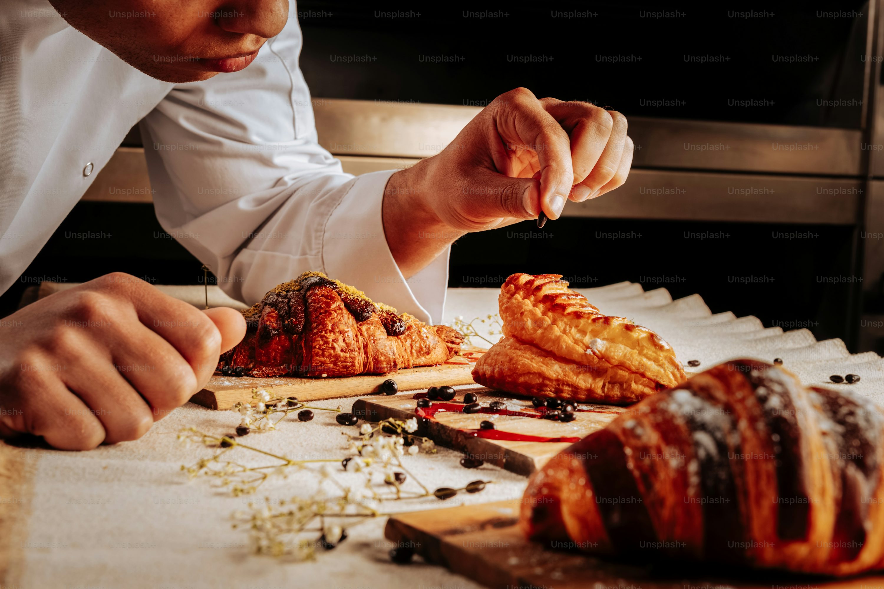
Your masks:
M476 356L482 349L469 351ZM252 378L250 376L211 377L205 389L191 397L195 404L225 411L239 403L252 401L252 389L267 389L271 396L297 396L301 401L319 401L334 399L339 396L359 396L380 392L381 383L392 378L403 390L425 390L443 385L472 384L473 366L476 359L455 356L445 364L437 366L420 366L408 368L389 374L365 374L340 378L295 378L279 376L276 378Z

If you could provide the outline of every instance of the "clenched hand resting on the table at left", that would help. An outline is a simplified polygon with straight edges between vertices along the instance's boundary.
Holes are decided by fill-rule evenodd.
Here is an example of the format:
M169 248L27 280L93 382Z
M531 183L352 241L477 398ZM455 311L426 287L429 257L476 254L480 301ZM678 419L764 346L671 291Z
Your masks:
M135 440L202 389L246 323L201 311L123 273L0 320L0 436L58 449Z

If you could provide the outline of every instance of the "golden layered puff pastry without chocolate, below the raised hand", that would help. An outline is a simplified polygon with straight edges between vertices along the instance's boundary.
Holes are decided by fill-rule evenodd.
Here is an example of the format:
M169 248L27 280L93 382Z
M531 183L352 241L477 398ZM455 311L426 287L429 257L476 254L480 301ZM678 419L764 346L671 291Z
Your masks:
M558 274L514 274L500 289L504 337L473 379L520 395L631 404L685 380L672 346L603 315Z

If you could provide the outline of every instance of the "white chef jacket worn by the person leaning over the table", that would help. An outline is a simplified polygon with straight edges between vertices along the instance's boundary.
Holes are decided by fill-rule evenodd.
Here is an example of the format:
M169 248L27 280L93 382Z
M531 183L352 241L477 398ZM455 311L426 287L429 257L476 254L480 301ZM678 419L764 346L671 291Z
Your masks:
M0 292L141 121L157 219L233 298L253 304L319 270L441 321L450 249L402 276L381 218L393 170L353 177L319 146L289 5L286 27L246 69L176 85L126 64L45 0L0 3Z

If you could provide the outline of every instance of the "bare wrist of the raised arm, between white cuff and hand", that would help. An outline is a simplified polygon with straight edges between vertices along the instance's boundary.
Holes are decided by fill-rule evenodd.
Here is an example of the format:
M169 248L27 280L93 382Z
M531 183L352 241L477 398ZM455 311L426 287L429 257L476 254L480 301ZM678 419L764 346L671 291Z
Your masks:
M428 181L433 162L423 160L393 174L384 191L384 232L402 276L414 276L466 231L439 220L428 202L434 187Z

